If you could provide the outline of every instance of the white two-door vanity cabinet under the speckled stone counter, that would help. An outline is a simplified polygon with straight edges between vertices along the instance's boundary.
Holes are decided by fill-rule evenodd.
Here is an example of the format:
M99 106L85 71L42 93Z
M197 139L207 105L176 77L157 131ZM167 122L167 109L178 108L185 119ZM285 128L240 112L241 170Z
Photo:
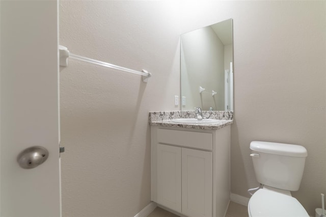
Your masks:
M151 127L151 200L186 216L222 217L230 199L230 125Z

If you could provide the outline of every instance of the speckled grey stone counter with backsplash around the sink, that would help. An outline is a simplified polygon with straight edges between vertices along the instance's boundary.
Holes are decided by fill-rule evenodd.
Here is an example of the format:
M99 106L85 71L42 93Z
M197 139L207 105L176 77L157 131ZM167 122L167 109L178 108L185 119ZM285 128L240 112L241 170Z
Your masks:
M203 111L205 118L220 120L217 123L175 123L171 120L179 118L194 118L195 111L171 111L171 112L150 112L149 125L183 127L193 129L221 129L233 123L233 112L225 111Z

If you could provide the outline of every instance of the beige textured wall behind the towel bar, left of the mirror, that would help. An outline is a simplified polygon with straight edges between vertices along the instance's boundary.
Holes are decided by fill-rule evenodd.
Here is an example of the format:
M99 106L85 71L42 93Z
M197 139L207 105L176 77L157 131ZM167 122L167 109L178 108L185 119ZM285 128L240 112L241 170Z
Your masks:
M150 203L150 111L178 110L179 12L173 3L60 2L60 44L153 74L69 60L61 70L63 216L134 216Z

